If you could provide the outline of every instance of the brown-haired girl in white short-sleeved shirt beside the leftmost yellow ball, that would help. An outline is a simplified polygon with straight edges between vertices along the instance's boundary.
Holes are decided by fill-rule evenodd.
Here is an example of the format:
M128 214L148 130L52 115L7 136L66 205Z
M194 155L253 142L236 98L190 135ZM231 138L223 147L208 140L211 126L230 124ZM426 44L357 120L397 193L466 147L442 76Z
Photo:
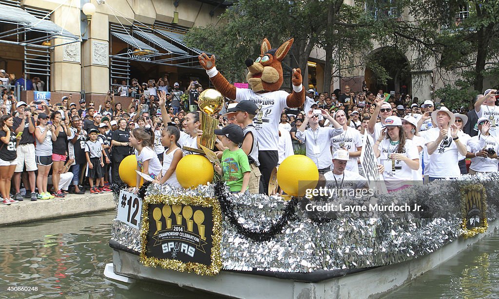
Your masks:
M133 129L130 134L130 145L135 148L135 157L137 159L137 171L140 171L152 179L156 179L161 172L161 164L158 155L152 149L154 142L154 133L152 130L138 128ZM137 174L137 189L140 185L141 177Z

